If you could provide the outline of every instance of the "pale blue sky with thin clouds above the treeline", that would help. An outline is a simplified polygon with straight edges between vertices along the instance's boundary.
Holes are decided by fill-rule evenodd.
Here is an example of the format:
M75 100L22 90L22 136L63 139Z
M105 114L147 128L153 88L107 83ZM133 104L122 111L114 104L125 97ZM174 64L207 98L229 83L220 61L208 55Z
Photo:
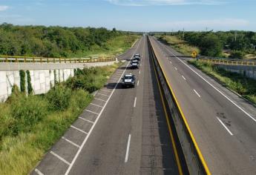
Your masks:
M0 23L129 31L252 30L256 0L0 0Z

